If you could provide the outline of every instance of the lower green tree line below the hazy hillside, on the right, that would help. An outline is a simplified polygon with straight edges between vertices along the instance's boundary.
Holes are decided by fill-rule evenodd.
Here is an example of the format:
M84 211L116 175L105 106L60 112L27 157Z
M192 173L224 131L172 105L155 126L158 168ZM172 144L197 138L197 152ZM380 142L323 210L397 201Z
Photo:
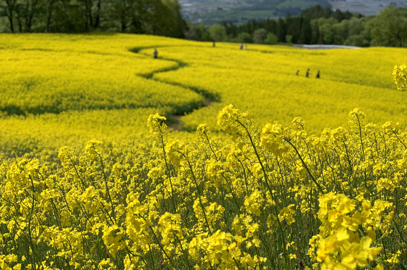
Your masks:
M223 22L207 29L189 23L185 35L199 41L405 47L407 9L389 6L376 16L364 17L315 6L298 16L252 20L243 25Z

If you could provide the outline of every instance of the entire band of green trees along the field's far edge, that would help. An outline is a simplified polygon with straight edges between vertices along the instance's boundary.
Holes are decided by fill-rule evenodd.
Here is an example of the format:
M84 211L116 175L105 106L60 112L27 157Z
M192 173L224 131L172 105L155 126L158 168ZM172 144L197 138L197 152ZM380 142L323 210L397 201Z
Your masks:
M186 23L178 0L0 0L2 32L123 32L198 41L407 46L407 9L376 16L315 6L298 16L209 28Z

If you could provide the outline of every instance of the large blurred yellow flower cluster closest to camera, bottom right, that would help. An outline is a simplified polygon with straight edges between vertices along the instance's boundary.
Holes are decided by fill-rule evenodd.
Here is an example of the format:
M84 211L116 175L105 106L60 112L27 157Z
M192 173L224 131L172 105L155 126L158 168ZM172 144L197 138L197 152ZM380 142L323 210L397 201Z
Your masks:
M343 194L330 192L320 197L318 219L322 225L317 235L316 260L323 262L321 268L355 269L374 261L383 248L371 247L376 240L376 230L380 229L383 236L388 235L393 218L393 212L385 214L386 210L393 210L392 203L376 200L371 206L368 201L362 201L361 211L357 211L355 201ZM310 245L308 253L312 254L314 240Z

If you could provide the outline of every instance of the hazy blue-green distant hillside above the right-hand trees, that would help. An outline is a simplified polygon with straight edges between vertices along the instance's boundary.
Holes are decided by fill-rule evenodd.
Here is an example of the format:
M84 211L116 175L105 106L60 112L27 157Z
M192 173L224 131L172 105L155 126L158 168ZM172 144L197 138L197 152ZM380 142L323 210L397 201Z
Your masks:
M321 5L342 12L376 15L388 5L407 8L406 0L179 0L186 20L212 25L222 21L243 24L249 20L299 15L301 10Z

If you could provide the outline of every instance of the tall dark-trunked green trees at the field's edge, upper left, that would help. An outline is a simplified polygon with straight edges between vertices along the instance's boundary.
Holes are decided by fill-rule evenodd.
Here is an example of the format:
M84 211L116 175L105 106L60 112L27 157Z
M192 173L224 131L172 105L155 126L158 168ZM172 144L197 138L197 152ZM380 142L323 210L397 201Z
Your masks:
M0 0L3 32L124 32L183 38L178 0Z

